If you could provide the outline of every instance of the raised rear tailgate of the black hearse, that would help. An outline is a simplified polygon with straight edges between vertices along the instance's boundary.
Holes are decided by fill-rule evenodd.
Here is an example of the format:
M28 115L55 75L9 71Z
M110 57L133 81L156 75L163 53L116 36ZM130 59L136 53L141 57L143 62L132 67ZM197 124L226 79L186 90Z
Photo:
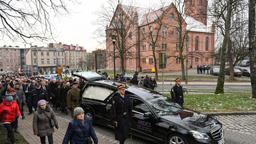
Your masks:
M104 77L103 75L92 72L92 71L77 72L77 73L73 73L73 75L81 79L84 79L85 81L98 81L98 80L106 79L106 77Z

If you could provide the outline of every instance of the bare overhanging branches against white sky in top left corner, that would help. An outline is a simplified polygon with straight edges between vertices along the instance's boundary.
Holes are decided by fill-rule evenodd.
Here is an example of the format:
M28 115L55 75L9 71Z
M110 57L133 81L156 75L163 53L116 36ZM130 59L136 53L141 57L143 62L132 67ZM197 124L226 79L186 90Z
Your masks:
M44 41L53 38L51 17L69 13L63 0L1 0L0 11L0 39L7 37L12 41L27 41L31 38Z

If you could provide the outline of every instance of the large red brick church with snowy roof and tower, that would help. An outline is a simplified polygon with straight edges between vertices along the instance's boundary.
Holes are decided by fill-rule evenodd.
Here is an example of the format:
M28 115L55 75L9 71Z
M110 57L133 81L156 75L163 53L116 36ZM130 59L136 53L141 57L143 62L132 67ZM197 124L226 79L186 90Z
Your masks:
M109 37L112 34L118 36L115 43L115 69L117 71L120 71L122 66L119 53L124 53L125 71L152 71L152 68L155 68L155 62L158 67L159 53L165 53L167 56L164 71L181 70L179 39L183 38L185 39L182 48L184 65L186 65L185 57L187 56L189 68L195 68L197 65L214 66L215 26L209 19L207 21L207 4L208 2L203 0L186 1L184 13L177 12L177 7L173 3L156 11L117 5L111 23L106 27L107 69L114 69L113 42ZM181 19L179 19L180 16ZM179 24L179 21L182 24ZM121 28L125 29L125 35L117 30ZM181 38L179 37L180 28L182 29ZM155 60L153 59L153 44L155 45ZM125 51L119 50L122 45L125 45ZM162 69L157 69L162 71Z

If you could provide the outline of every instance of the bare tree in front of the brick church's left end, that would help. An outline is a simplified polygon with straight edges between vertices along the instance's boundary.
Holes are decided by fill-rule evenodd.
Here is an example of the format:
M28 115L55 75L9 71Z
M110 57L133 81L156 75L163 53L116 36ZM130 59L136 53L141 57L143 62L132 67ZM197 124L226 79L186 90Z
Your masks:
M125 60L136 59L138 57L135 53L137 49L137 35L138 31L138 14L137 7L133 6L133 1L129 1L129 5L122 5L116 3L116 1L109 0L108 6L102 6L100 11L97 12L99 19L101 19L101 29L103 28L102 23L107 23L109 26L105 27L106 33L97 33L99 37L106 37L106 43L109 47L112 47L112 40L109 35L117 35L115 43L115 60L120 59L121 71L125 74ZM117 4L117 6L115 6ZM97 29L99 32L100 29ZM113 57L112 49L107 49L107 57Z

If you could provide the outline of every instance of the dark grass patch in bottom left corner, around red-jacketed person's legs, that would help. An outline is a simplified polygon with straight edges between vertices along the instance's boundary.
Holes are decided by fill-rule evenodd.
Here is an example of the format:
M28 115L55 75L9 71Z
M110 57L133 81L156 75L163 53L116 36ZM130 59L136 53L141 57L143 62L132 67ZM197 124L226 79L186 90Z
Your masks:
M23 138L23 136L20 133L15 133L15 132L13 132L13 133L14 133L14 137L15 137L15 143L24 143L24 144L27 143L27 141ZM1 125L1 127L0 127L0 143L1 144L11 143L11 141L9 141L7 139L7 130L5 129L5 126L3 126L3 125Z

